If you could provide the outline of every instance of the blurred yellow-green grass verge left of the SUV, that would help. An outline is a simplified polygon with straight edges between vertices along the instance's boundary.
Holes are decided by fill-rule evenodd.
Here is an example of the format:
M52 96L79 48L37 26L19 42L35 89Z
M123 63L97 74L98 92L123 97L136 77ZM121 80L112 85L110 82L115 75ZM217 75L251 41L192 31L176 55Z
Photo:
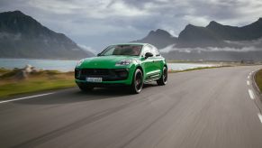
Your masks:
M44 70L31 74L27 79L14 79L14 71L9 71L0 77L0 98L74 86L74 72Z

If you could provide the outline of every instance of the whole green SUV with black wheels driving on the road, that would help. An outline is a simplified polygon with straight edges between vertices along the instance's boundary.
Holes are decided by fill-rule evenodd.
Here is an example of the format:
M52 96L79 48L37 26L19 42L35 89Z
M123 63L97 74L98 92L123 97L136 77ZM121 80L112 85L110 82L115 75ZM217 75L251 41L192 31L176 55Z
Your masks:
M144 83L167 84L167 62L149 43L114 44L97 57L79 60L75 79L83 91L128 86L132 93L138 94Z

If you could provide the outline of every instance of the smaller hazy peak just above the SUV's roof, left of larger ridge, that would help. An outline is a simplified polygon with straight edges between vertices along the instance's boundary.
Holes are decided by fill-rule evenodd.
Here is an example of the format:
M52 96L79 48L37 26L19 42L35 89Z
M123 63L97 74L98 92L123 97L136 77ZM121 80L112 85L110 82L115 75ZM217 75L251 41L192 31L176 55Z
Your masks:
M157 31L151 31L149 34L141 39L134 42L145 42L156 46L158 49L167 47L170 44L176 42L177 38L172 36L169 32L158 29Z

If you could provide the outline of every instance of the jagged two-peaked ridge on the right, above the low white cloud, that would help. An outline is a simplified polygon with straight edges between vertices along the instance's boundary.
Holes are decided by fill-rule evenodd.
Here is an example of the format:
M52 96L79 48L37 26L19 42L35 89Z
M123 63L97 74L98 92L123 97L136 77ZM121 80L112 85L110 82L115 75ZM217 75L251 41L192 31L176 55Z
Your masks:
M179 48L192 47L236 47L229 42L253 41L262 38L262 18L246 26L237 27L223 25L215 21L207 26L195 26L187 24L185 29L179 33L178 37L171 36L170 33L158 29L135 42L148 42L155 44L159 49L176 44Z

